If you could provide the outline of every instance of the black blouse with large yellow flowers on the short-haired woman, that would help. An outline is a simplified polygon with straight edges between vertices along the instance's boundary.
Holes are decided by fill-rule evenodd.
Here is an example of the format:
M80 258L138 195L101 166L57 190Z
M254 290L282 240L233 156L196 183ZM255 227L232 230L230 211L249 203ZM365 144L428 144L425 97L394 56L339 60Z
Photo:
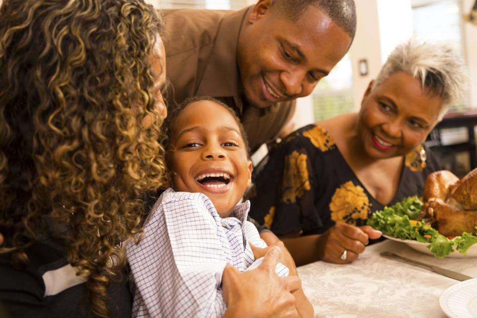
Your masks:
M417 151L406 156L389 205L422 195L426 176L440 169L437 158L424 149L425 164ZM365 225L374 211L384 208L321 126L308 125L290 134L271 149L267 159L254 171L255 187L248 197L250 216L277 235L320 234L337 222Z

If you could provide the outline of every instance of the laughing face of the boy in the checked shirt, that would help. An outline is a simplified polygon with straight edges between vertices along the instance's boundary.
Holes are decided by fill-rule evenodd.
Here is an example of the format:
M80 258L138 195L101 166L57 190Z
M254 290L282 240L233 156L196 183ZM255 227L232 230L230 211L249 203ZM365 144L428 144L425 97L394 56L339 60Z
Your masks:
M232 114L213 101L196 101L180 112L172 129L168 161L174 190L203 193L222 218L231 216L252 172Z

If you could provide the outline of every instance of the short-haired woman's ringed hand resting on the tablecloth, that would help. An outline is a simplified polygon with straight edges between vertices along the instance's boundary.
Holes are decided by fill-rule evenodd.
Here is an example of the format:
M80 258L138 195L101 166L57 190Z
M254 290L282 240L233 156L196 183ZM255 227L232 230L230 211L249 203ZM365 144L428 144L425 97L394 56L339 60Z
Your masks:
M382 233L370 226L355 227L336 223L318 238L318 257L325 262L347 264L364 252L369 239L378 239ZM346 259L341 259L346 250Z

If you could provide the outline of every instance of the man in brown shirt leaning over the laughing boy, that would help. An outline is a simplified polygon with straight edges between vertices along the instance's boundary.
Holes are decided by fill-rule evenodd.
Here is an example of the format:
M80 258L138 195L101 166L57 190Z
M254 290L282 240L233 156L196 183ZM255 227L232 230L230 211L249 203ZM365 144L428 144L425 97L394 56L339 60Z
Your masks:
M163 10L169 106L209 95L233 107L253 153L275 139L348 50L354 0L259 0L239 11Z

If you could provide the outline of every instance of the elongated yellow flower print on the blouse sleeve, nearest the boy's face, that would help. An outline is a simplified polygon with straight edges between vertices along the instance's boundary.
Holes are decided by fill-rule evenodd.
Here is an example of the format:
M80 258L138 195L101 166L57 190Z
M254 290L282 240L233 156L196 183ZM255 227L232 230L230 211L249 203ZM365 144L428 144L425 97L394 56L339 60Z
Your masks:
M285 158L285 169L283 171L282 197L286 203L294 203L297 198L301 198L305 191L310 190L310 180L308 179L307 155L294 151Z

